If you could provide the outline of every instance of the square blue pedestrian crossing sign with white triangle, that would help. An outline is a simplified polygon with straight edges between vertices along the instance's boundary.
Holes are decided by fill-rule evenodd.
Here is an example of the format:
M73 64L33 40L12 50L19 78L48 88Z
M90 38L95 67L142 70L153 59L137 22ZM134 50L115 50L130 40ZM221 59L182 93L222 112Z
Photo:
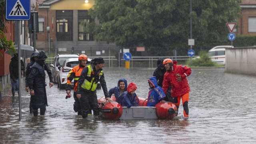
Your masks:
M29 20L30 0L6 0L7 20Z

